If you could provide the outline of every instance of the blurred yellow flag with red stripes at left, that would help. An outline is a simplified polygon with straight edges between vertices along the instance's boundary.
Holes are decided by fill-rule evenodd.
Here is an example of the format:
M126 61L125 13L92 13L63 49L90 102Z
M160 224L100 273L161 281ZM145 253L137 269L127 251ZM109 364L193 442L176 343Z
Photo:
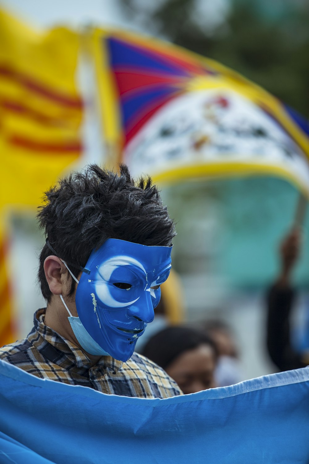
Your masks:
M82 99L76 86L79 37L41 32L0 10L0 346L16 340L6 263L11 214L43 192L82 155Z

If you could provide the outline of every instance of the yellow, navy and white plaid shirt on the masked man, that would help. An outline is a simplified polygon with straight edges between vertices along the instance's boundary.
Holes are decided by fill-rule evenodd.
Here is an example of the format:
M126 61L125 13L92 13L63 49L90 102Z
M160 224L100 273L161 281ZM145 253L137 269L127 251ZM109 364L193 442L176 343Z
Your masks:
M92 366L80 348L44 324L44 316L45 309L38 309L27 338L0 348L0 359L41 379L82 385L107 394L138 398L182 394L161 367L137 353L126 363L102 356Z

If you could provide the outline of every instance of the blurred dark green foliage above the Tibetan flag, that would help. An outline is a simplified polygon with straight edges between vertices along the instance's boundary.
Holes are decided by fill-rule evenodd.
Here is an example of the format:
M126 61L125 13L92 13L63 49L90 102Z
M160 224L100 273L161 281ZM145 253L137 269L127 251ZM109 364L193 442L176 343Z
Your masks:
M207 13L213 0L120 3L147 32L229 66L309 117L308 0L221 0L219 20Z

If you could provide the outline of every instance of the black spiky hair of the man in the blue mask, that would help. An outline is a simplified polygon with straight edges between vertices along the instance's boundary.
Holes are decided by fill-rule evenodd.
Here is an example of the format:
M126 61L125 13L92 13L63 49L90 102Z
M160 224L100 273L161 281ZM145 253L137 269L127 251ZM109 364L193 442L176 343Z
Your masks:
M45 192L44 204L38 207L38 223L57 256L82 267L91 251L107 238L170 246L176 235L174 222L151 178L140 177L135 182L124 164L119 173L92 164L60 180ZM38 281L47 302L52 294L44 260L51 254L45 244L39 258ZM78 276L78 269L69 268ZM71 279L69 295L74 291L75 281Z

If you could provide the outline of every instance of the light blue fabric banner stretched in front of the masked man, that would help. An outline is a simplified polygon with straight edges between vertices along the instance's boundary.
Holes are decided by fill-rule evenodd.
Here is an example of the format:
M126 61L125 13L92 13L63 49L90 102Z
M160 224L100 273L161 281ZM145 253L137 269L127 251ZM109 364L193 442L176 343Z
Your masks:
M41 380L0 361L0 463L309 462L309 367L166 400Z

